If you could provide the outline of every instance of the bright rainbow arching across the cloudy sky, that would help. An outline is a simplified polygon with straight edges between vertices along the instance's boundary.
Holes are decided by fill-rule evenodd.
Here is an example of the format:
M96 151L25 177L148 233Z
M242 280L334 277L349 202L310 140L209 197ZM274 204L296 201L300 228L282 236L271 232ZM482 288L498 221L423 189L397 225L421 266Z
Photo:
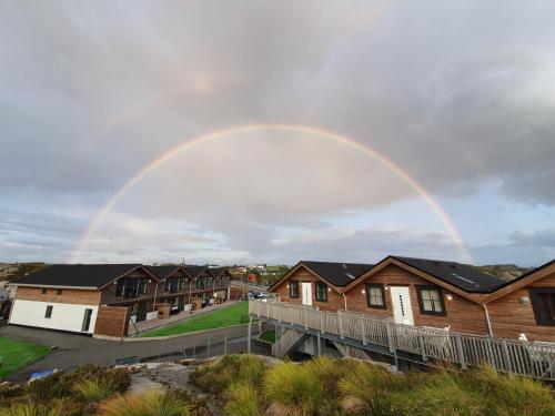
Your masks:
M118 190L102 206L102 209L94 215L92 221L89 223L89 226L87 227L85 232L79 240L78 244L75 245L74 250L71 253L70 262L71 263L77 263L79 262L79 253L82 253L84 251L84 246L87 242L89 241L91 234L98 229L98 226L102 223L104 217L112 211L114 205L134 186L137 185L144 176L147 176L149 173L171 160L172 158L176 156L178 154L181 154L183 152L186 152L193 148L200 146L202 144L213 142L219 139L224 139L225 136L232 135L232 134L240 134L240 133L248 133L248 132L255 132L255 131L284 131L284 132L295 132L295 133L304 133L307 135L312 135L317 139L322 140L331 140L334 141L335 143L340 143L343 145L346 145L349 148L352 148L354 150L357 150L362 152L363 154L372 158L373 160L377 161L381 163L383 166L385 166L387 170L393 172L395 175L397 175L400 179L402 179L410 187L412 187L430 206L430 209L435 213L437 219L443 223L444 227L451 235L453 242L457 245L460 253L462 257L468 262L472 263L472 257L466 250L466 246L464 244L463 239L461 237L461 234L458 233L456 226L453 224L453 221L450 219L447 213L442 209L442 206L437 203L437 201L434 200L434 197L425 190L425 187L420 184L414 177L412 177L408 173L406 173L401 166L397 164L393 163L391 160L385 158L384 155L380 154L377 151L374 149L363 145L359 142L356 142L353 139L350 139L345 135L341 135L334 132L325 131L322 129L313 128L313 126L306 126L306 125L296 125L296 124L245 124L245 125L239 125L239 126L233 126L224 130L218 130L213 131L196 138L193 138L192 140L188 140L185 142L182 142L178 144L175 148L171 149L167 153L160 155L159 158L152 160L149 162L147 165L144 165L137 174L134 174L128 182L123 184L122 187Z

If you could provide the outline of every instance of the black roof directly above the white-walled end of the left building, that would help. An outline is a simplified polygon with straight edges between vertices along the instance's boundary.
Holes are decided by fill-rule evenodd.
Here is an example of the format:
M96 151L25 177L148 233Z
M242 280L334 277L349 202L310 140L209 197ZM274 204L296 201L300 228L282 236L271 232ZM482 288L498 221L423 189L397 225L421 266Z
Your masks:
M99 288L140 266L140 264L53 264L12 283Z

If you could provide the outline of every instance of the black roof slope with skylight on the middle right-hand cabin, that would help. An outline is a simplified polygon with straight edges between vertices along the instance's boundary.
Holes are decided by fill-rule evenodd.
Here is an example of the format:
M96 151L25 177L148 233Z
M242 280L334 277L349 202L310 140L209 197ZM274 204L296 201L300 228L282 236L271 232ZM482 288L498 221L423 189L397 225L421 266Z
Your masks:
M491 293L506 283L470 264L396 255L391 257L470 293Z

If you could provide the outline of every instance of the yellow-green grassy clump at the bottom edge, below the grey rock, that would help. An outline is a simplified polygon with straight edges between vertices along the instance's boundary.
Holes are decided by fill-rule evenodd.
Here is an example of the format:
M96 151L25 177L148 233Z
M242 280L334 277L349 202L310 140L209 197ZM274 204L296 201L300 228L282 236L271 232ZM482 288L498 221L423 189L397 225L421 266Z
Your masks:
M103 416L189 416L188 403L176 393L149 392L141 395L117 395L99 407Z

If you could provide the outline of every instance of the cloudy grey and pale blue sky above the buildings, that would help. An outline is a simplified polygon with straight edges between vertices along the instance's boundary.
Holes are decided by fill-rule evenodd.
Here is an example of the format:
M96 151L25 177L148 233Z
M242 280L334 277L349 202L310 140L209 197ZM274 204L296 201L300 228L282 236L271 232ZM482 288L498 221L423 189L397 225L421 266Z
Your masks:
M555 258L553 11L1 1L0 262Z

